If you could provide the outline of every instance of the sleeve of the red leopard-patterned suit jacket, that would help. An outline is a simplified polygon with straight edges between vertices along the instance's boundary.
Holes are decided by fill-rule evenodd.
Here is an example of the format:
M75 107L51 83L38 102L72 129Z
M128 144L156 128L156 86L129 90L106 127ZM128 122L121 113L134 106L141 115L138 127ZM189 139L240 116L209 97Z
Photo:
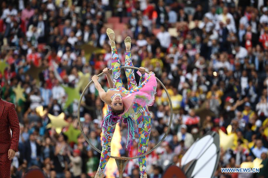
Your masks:
M18 122L18 115L15 110L15 105L12 104L8 111L8 120L10 123L10 129L12 130L12 138L9 149L13 149L18 152L18 140L20 137L20 126Z

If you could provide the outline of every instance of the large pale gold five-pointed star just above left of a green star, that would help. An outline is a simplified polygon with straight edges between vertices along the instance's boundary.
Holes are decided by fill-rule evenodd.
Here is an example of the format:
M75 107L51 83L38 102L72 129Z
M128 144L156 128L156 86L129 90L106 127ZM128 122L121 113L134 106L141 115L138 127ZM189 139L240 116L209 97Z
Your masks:
M56 132L59 134L64 126L68 125L68 122L64 120L64 113L59 114L58 116L53 116L52 114L47 114L50 119L50 123L47 125L47 128L55 128Z

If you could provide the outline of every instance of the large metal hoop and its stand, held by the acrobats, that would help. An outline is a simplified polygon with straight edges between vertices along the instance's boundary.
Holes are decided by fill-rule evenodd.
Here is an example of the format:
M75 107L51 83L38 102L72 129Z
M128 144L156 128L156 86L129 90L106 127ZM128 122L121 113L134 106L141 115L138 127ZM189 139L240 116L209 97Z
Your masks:
M136 69L136 70L139 70L138 67L129 67L129 66L122 66L121 69ZM111 69L109 70L111 71ZM148 71L145 71L146 73L149 73ZM98 77L100 77L101 75L103 75L104 73L100 73L98 75ZM164 141L164 139L166 138L166 136L168 135L168 132L169 132L169 129L171 127L171 123L172 123L172 116L173 116L173 108L172 108L172 103L171 103L171 98L170 98L170 95L168 94L168 90L166 89L166 87L164 86L164 84L158 79L156 78L156 80L160 83L160 85L164 88L167 96L168 96L168 100L169 100L169 105L170 105L170 120L169 120L169 125L168 125L168 130L167 132L165 133L165 135L163 136L163 138L161 139L161 141L154 147L152 148L150 151L142 154L142 155L139 155L139 156L135 156L135 157L117 157L117 156L111 156L111 158L114 158L116 163L117 163L117 167L118 167L118 170L119 170L119 177L122 177L122 174L123 174L123 170L126 166L126 163L128 160L132 160L132 159L137 159L137 158L140 158L140 157L143 157L145 155L148 155L149 153L151 153L154 149L156 149L157 147L159 147L159 145ZM81 129L81 132L84 136L84 138L86 139L86 141L89 143L89 145L95 149L97 152L101 153L101 151L99 149L97 149L90 141L89 139L86 137L86 134L84 133L83 131L83 128L82 128L82 125L81 125L81 121L80 121L80 105L81 105L81 101L82 101L82 98L86 92L86 90L89 88L89 86L93 83L93 81L90 81L89 84L87 84L86 88L83 90L82 94L81 94L81 97L80 97L80 100L79 100L79 103L78 103L78 123L79 123L79 126L80 126L80 129Z

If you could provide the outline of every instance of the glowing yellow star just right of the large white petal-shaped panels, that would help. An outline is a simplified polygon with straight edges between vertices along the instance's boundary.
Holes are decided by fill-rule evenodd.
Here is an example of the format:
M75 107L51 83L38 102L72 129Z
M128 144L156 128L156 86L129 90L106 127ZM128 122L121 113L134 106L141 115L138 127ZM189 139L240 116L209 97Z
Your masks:
M221 129L219 130L220 147L222 147L224 150L227 150L228 148L231 148L234 145L235 134L230 133L230 129L229 129L230 127L229 128L228 127L226 129L227 133L229 133L228 135L224 133Z

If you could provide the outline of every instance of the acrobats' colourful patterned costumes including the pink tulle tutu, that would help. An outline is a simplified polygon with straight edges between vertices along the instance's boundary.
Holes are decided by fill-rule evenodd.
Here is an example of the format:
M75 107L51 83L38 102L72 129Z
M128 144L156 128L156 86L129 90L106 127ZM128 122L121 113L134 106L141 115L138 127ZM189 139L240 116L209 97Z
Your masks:
M140 85L137 86L134 70L126 69L126 76L128 78L128 90L123 87L121 80L121 63L118 58L116 48L112 50L112 70L113 70L113 83L114 88L109 90L120 91L127 94L122 99L127 99L127 103L134 103L129 105L123 113L123 122L128 126L128 141L127 149L130 150L131 141L134 139L134 121L138 125L139 136L139 149L138 155L141 155L147 151L147 144L151 131L151 117L148 111L147 105L152 105L154 102L154 94L156 91L156 79L154 75L149 75L147 78L143 74L140 78ZM126 53L125 66L133 66L131 61L131 53ZM107 91L108 92L108 91ZM123 100L124 101L124 100ZM124 102L125 105L125 102ZM111 117L111 107L108 106L107 114L103 119L103 135L102 135L102 153L100 157L100 165L98 172L103 172L104 168L111 156L111 139L114 134L116 123L120 121L119 116ZM134 121L133 121L133 119ZM146 173L146 158L139 158L141 175Z

